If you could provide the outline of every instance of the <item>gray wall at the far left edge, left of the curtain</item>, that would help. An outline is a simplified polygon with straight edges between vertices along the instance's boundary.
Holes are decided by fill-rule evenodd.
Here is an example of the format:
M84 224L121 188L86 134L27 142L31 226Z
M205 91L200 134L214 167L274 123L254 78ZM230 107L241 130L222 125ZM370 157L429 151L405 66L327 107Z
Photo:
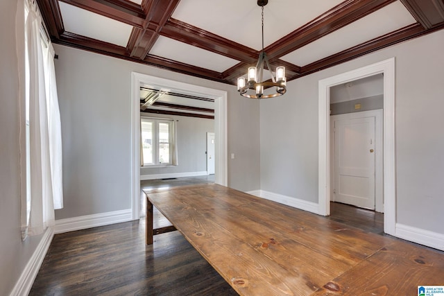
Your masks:
M20 232L19 112L24 107L19 104L18 67L24 63L17 59L16 46L24 56L24 44L15 37L16 9L16 0L0 1L0 295L10 294L42 238L22 242ZM23 5L19 9L22 24ZM19 31L24 32L24 27Z

